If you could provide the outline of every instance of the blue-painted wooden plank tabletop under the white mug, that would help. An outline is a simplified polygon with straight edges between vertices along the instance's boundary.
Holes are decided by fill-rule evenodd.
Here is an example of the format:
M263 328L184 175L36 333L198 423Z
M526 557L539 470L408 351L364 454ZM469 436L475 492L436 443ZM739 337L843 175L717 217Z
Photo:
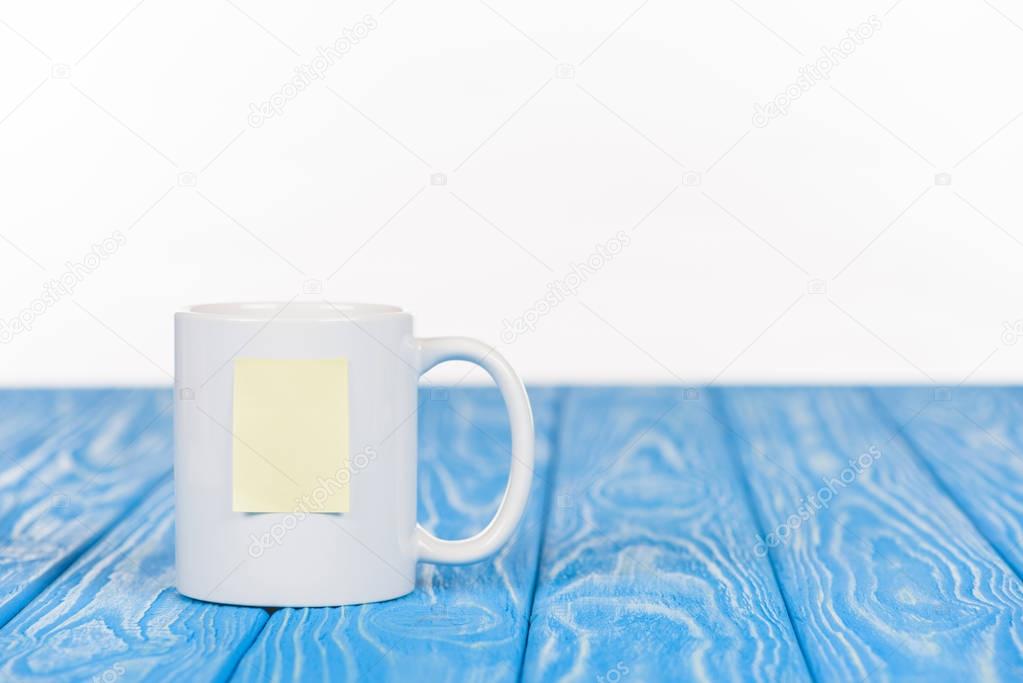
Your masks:
M0 680L1023 680L1023 392L531 396L496 560L270 614L173 589L169 392L0 392ZM500 399L420 399L420 518L471 533Z

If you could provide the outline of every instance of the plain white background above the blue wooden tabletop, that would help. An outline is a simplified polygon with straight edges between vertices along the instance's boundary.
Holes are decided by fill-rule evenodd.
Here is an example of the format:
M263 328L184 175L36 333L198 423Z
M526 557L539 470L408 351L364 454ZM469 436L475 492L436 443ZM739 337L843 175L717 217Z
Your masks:
M499 345L527 380L1023 379L1007 0L3 2L0 64L0 317L127 240L6 335L3 383L166 383L202 302L392 303L498 343L618 231Z

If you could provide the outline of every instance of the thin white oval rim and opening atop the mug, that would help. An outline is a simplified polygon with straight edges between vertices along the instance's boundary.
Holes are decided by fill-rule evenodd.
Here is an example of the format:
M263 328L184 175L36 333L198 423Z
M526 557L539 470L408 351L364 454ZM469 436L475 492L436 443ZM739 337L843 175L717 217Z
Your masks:
M187 306L178 316L220 320L302 320L347 322L404 313L390 304L361 302L218 302Z

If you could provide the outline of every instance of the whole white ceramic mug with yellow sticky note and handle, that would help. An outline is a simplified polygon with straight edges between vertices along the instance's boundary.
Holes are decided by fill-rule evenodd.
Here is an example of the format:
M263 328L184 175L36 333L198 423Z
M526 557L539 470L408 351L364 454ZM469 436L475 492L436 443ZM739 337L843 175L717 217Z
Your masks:
M453 541L415 518L417 382L447 360L493 377L511 427L494 518ZM485 344L415 338L412 316L392 306L212 304L175 316L174 364L184 595L262 606L388 600L414 588L416 561L484 559L522 516L532 411Z

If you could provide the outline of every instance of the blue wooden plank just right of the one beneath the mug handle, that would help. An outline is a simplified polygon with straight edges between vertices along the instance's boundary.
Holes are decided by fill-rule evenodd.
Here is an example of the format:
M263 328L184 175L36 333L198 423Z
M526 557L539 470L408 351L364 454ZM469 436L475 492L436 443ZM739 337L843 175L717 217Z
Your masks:
M569 395L526 680L808 680L706 404L680 389Z

